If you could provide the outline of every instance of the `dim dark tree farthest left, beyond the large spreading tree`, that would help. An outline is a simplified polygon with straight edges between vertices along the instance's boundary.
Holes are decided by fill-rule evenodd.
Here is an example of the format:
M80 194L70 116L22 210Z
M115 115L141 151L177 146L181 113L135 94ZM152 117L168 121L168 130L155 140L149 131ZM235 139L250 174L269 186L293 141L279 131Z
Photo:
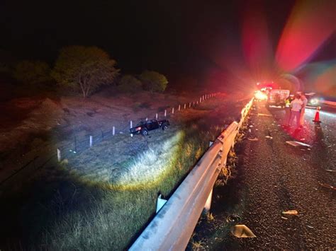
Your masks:
M13 69L13 77L18 81L29 84L50 81L50 66L41 61L23 60Z

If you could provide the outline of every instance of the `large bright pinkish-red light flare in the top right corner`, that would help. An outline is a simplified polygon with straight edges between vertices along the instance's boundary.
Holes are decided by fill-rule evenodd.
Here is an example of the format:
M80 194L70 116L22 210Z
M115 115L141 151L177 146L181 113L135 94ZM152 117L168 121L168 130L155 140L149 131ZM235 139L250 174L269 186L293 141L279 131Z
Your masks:
M276 51L281 69L297 69L335 32L335 9L334 0L299 0L296 3Z

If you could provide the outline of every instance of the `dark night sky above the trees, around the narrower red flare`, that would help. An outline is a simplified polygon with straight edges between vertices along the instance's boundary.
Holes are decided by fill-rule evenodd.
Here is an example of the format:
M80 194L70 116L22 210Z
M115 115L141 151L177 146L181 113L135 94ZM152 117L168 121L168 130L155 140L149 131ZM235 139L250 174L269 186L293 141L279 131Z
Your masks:
M245 66L242 23L247 13L252 13L252 19L266 18L274 54L294 3L2 1L1 49L20 59L42 59L52 65L65 45L96 45L116 59L123 72L204 74L218 68L228 74L226 64ZM315 57L334 57L334 44L327 42L327 49Z

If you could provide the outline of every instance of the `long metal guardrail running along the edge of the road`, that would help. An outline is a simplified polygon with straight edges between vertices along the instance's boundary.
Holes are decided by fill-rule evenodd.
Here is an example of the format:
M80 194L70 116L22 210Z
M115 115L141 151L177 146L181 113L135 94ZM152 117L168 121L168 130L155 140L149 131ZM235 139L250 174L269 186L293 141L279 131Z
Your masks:
M242 109L239 122L233 122L215 140L186 179L130 247L130 250L184 250L204 206L211 200L220 169L250 111L253 98Z

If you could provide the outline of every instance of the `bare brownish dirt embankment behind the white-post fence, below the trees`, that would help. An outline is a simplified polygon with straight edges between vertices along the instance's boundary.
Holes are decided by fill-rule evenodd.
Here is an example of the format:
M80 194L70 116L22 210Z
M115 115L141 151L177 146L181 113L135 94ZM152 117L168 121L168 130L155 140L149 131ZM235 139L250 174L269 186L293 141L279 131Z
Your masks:
M183 93L181 93L183 94ZM116 127L116 134L127 133L130 120L164 117L199 100L199 95L136 93L123 95L112 90L89 99L65 96L50 98L16 98L0 103L0 180L35 156L55 153L56 148L72 144L91 134Z

